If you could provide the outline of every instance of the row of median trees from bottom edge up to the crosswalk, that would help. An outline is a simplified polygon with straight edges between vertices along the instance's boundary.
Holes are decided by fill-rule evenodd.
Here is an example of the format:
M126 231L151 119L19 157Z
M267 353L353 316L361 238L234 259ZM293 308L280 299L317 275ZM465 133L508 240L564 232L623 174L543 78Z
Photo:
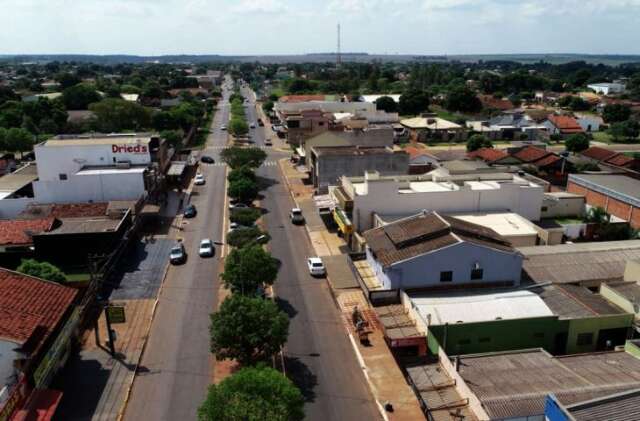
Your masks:
M255 199L259 190L255 169L264 162L265 152L232 147L221 157L231 168L228 195L245 202ZM231 214L232 221L248 227L227 237L233 249L221 278L231 295L211 315L210 348L216 359L236 360L242 368L209 387L198 410L201 421L304 418L300 390L267 366L287 341L289 318L261 292L275 282L279 262L263 247L269 235L254 226L259 217L260 212L253 208Z

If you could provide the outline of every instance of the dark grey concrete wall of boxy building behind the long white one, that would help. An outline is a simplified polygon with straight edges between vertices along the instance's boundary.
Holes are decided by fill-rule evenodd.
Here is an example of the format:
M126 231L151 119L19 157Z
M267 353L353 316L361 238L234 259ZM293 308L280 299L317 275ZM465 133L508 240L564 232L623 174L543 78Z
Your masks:
M322 150L322 149L320 149ZM313 153L313 152L312 152ZM315 187L337 185L341 176L363 176L365 171L378 171L382 175L407 174L409 155L389 151L373 155L321 155L315 161L313 181Z

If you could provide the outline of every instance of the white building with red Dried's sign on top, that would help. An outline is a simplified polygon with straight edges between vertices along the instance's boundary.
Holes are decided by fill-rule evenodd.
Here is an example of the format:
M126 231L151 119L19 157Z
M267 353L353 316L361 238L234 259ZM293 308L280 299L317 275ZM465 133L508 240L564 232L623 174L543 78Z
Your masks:
M153 164L164 156L157 137L100 135L57 137L34 148L38 203L137 200L147 192Z

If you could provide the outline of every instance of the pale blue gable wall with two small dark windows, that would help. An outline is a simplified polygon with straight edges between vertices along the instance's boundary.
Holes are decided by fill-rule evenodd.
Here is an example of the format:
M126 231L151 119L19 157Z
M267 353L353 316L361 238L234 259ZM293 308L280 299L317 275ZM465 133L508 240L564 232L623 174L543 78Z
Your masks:
M368 256L369 258L369 256ZM371 258L373 260L373 258ZM471 269L479 263L484 270L481 280L471 280ZM377 266L375 266L377 265ZM514 281L520 284L522 256L463 242L374 271L387 289L411 289L428 286ZM440 282L440 272L453 271L453 281Z

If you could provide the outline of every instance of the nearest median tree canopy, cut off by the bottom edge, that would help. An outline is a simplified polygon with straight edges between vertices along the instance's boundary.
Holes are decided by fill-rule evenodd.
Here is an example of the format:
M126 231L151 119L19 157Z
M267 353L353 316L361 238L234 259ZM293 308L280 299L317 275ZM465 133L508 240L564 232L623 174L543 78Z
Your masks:
M246 367L209 386L198 420L298 421L303 409L302 393L279 371Z

